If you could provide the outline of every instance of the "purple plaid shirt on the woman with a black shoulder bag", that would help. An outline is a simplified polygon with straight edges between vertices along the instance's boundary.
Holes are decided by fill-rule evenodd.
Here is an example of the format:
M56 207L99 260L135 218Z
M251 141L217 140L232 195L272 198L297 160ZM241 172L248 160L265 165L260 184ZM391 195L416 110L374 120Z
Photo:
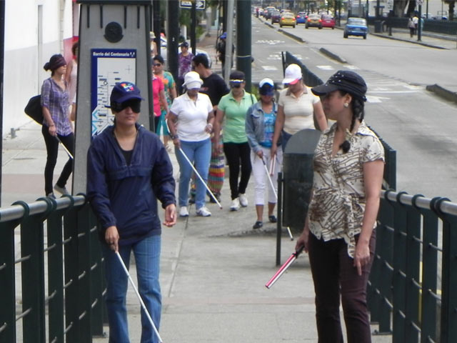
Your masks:
M56 125L57 134L68 136L71 134L69 119L69 90L62 90L56 81L50 77L44 80L41 86L41 106L45 106L51 113L51 118ZM44 122L48 126L48 123Z

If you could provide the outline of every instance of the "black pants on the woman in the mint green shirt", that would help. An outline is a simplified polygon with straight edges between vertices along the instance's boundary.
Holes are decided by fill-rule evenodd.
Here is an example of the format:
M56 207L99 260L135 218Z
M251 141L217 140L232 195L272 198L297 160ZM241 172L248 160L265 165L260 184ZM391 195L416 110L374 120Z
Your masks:
M238 198L239 194L246 193L248 187L249 177L251 177L251 148L246 143L231 143L224 142L224 154L226 154L227 163L229 164L229 182L231 199ZM241 166L241 179L238 184L238 176L240 174Z

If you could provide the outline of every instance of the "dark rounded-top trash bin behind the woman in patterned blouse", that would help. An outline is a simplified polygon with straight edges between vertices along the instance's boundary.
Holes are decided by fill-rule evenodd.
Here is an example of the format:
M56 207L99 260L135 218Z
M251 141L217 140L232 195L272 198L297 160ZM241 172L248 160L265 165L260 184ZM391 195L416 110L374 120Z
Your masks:
M313 157L321 131L304 129L289 139L283 154L283 227L301 233L313 187Z

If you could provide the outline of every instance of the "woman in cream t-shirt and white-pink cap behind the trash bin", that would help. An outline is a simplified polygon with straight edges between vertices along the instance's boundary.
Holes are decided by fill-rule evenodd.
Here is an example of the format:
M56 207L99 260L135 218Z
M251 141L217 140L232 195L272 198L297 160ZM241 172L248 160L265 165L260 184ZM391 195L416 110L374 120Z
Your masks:
M282 147L286 148L289 138L303 129L327 129L327 119L323 114L321 99L311 92L311 88L303 83L301 67L290 64L286 68L283 84L286 89L281 91L278 99L278 116L274 129L271 154L276 154L278 139L282 133ZM314 126L314 121L318 127Z

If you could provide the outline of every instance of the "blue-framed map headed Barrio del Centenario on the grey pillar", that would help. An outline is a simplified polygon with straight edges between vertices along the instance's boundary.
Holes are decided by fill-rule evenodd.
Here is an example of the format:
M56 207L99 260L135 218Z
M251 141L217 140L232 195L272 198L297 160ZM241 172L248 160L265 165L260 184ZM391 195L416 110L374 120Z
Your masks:
M91 133L96 136L113 124L109 96L116 82L136 83L136 50L91 50Z

